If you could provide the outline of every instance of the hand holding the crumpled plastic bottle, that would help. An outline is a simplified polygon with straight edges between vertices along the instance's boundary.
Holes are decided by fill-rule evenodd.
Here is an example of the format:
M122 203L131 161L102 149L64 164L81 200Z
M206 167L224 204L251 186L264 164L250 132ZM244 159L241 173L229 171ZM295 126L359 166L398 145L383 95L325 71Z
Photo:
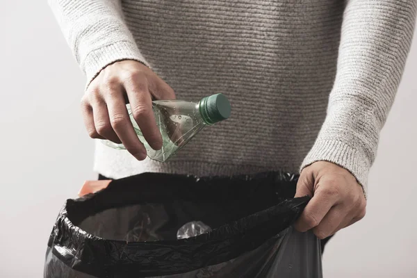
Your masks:
M152 97L175 99L175 94L170 85L136 60L108 65L90 83L81 100L88 134L91 138L122 143L142 161L147 152L129 120L126 99L145 140L152 149L161 149L162 137L152 111Z

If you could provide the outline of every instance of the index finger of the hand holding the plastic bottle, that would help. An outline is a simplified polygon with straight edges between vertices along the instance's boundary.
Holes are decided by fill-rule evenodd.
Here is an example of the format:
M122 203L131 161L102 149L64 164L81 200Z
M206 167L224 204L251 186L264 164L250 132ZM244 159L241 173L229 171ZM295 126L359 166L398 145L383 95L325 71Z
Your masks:
M138 123L143 137L145 137L152 149L161 149L162 136L156 125L154 111L152 110L152 97L147 80L144 76L133 73L124 82L124 88L129 98L133 118Z

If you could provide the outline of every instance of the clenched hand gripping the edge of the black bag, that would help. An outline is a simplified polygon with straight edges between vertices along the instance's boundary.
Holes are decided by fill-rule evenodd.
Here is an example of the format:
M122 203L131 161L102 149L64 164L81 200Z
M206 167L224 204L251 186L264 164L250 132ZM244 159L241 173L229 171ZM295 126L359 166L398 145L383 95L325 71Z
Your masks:
M295 223L304 232L313 229L327 238L365 216L366 199L357 179L343 167L318 161L305 167L297 183L295 197L312 196Z

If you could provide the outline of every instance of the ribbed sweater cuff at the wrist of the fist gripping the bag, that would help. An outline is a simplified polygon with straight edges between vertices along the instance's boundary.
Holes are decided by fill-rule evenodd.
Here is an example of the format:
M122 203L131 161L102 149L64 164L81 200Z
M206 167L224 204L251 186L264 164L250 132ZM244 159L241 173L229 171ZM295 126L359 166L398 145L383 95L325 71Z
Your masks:
M368 195L370 163L366 154L338 140L317 140L301 165L300 172L317 161L329 161L348 170Z

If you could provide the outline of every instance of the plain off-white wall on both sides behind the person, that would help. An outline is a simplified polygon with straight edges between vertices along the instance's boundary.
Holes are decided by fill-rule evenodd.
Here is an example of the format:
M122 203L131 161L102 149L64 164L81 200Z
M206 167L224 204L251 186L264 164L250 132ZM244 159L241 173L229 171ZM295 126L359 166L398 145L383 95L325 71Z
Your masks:
M417 35L416 35L417 39ZM47 1L0 1L0 277L42 277L65 199L92 172L85 79ZM368 213L332 239L325 277L417 277L417 42L381 134Z

